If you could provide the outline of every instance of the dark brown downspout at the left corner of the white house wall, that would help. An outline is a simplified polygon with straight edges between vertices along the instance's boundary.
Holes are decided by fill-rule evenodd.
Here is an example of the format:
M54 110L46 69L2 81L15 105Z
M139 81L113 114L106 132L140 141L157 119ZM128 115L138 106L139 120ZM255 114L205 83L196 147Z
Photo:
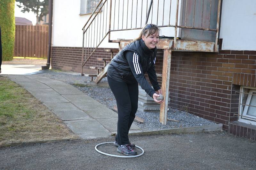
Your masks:
M49 0L49 23L48 23L48 52L47 52L47 63L46 66L42 66L42 70L48 70L51 63L51 48L52 48L52 11L53 11L53 0Z

